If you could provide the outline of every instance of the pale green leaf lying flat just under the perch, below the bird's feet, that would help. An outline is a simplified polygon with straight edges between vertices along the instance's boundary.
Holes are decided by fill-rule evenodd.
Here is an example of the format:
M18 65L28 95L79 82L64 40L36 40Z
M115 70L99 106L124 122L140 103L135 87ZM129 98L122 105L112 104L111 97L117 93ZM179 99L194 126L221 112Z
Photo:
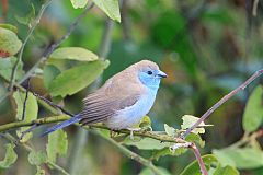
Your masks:
M126 139L124 144L126 145L134 145L137 147L140 150L161 150L165 147L171 145L171 143L168 142L160 142L159 140L151 139L151 138L138 138L135 137L135 140Z

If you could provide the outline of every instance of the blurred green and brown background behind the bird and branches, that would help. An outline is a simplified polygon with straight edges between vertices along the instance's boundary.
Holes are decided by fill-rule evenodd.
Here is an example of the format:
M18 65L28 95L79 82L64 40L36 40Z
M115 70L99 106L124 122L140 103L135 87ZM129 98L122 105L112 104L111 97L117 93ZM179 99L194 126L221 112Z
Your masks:
M43 1L8 0L8 7L0 1L0 22L10 23L19 28L23 40L27 26L18 22L18 16L31 12L32 3L36 13ZM149 116L153 130L163 130L163 124L180 128L181 117L185 114L202 116L220 97L241 84L249 75L263 67L263 1L259 0L256 14L252 0L124 0L122 23L113 23L112 42L106 59L111 61L104 71L103 81L127 66L141 59L159 63L168 73L159 91L156 104ZM39 26L25 47L24 70L28 70L43 50L65 35L70 23L82 9L73 9L69 0L56 0L48 8ZM105 28L105 14L93 8L61 46L84 47L99 52ZM253 82L243 92L229 100L206 120L214 127L207 128L203 138L206 145L202 153L222 149L240 140L243 136L242 115ZM31 90L45 95L41 79L31 80ZM90 88L66 97L65 108L78 113L82 108L81 98ZM0 94L7 93L5 84L0 81ZM46 112L41 108L39 116ZM15 112L12 98L0 104L0 124L13 121ZM67 156L60 158L61 166L69 167L71 154L78 151L76 138L80 133L76 127L68 127L69 149ZM262 143L262 138L259 138ZM45 139L34 138L34 147L42 148ZM0 155L4 155L0 139ZM115 148L95 136L88 135L81 143L81 156L77 159L78 174L133 175L142 166L122 155ZM149 158L148 151L130 148ZM25 160L27 154L19 151L19 160L12 168L0 172L8 174L33 174ZM155 164L179 174L194 160L192 152L180 156L164 156ZM263 167L243 170L244 175L263 174Z

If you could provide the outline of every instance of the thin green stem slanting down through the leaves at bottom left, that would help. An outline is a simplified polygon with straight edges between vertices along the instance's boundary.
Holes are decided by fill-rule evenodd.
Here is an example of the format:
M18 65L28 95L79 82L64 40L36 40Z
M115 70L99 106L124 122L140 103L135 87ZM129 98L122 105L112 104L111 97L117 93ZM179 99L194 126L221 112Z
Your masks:
M18 140L10 133L4 133L2 135L5 139L8 139L9 141L15 143L16 145L20 145L21 148L23 148L24 150L26 150L27 152L32 152L34 151L34 149L32 149L30 145L25 144L25 143L21 143L18 142ZM47 160L46 164L53 166L55 170L57 170L58 172L60 172L64 175L69 175L68 172L66 172L62 167L60 167L59 165L57 165L56 163L53 163L50 161Z

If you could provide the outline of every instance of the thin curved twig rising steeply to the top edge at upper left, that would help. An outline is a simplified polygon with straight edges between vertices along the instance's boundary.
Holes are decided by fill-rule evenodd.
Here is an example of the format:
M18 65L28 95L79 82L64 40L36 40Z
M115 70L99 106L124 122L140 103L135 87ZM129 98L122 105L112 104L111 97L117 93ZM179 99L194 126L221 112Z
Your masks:
M18 56L18 60L15 61L14 67L13 67L13 70L12 70L12 73L11 73L11 79L10 79L10 84L9 84L9 91L12 91L12 90L13 90L13 84L14 84L15 77L16 77L16 71L18 71L18 68L19 68L19 63L22 61L22 56L23 56L23 52L24 52L25 45L27 44L27 42L28 42L30 37L32 36L33 32L35 31L35 28L36 28L36 26L38 25L38 23L41 22L41 18L42 18L44 11L45 11L46 8L52 3L52 1L53 1L53 0L47 0L47 1L42 5L38 15L36 16L35 21L33 22L32 26L30 27L28 34L26 35L26 37L25 37L25 39L24 39L24 43L23 43L22 46L21 46L21 49L20 49L20 52L19 52L19 56Z

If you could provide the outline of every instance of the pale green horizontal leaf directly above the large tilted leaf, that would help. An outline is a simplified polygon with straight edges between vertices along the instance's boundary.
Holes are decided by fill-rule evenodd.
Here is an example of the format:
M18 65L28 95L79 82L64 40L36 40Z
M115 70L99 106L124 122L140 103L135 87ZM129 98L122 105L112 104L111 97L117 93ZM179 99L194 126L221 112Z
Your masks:
M82 47L61 47L56 49L49 58L49 61L53 59L70 59L70 60L78 60L78 61L94 61L98 60L99 57Z

